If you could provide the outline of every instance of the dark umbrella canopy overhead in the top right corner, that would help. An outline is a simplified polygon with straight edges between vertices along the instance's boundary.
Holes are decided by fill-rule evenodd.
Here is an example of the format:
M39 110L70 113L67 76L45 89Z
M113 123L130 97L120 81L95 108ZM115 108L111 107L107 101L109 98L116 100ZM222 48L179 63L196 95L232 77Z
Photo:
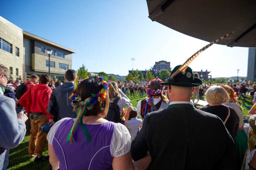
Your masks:
M147 0L149 18L180 33L217 44L256 47L256 0Z

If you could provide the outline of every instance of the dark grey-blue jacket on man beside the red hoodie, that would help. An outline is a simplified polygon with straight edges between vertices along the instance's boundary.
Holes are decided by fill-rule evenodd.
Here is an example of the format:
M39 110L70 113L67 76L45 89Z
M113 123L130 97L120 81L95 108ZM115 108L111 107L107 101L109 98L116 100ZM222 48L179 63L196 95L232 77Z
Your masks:
M76 118L76 113L73 112L73 107L71 106L72 100L68 99L73 92L74 87L74 83L65 82L63 85L55 88L51 94L47 112L53 115L51 113L52 107L56 107L58 121L65 117Z

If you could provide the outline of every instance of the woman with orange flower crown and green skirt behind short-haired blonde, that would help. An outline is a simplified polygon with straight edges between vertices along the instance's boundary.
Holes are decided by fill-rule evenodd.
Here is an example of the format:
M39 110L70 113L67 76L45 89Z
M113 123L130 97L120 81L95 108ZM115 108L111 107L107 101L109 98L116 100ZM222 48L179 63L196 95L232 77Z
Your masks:
M244 130L244 114L241 107L238 104L236 92L229 85L223 85L223 88L227 91L229 100L228 103L222 104L227 107L231 107L236 111L239 117L239 127L235 138L235 153L236 153L236 168L241 169L244 161L244 155L247 149L247 135Z

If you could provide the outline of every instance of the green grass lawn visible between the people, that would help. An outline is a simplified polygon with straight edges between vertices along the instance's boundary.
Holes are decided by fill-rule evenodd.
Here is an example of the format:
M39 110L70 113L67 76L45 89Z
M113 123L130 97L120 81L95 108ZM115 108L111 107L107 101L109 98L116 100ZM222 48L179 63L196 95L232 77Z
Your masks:
M130 95L128 95L130 98ZM131 97L131 103L134 107L137 106L137 103L139 100L142 100L145 98L140 97L139 94L135 94L135 97ZM245 100L239 100L240 104L244 104L247 106L252 106L252 102L249 98L246 98ZM248 111L250 108L243 107L244 108L244 115L248 115ZM40 163L34 163L34 159L29 159L28 157L28 143L29 143L29 136L26 136L22 143L17 146L16 148L12 149L10 151L9 155L9 166L8 170L48 170L49 169L49 162L48 161L42 161ZM48 148L47 143L45 144L45 149L43 152L43 155L49 155L48 154Z

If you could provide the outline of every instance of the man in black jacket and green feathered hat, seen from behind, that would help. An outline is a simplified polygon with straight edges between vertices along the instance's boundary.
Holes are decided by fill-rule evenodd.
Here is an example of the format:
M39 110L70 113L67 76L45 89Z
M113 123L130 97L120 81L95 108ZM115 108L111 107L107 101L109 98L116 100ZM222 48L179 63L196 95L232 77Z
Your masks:
M190 67L161 83L168 86L170 106L143 119L132 142L134 161L149 151L148 169L236 169L234 141L221 119L190 103L194 87L201 84Z

